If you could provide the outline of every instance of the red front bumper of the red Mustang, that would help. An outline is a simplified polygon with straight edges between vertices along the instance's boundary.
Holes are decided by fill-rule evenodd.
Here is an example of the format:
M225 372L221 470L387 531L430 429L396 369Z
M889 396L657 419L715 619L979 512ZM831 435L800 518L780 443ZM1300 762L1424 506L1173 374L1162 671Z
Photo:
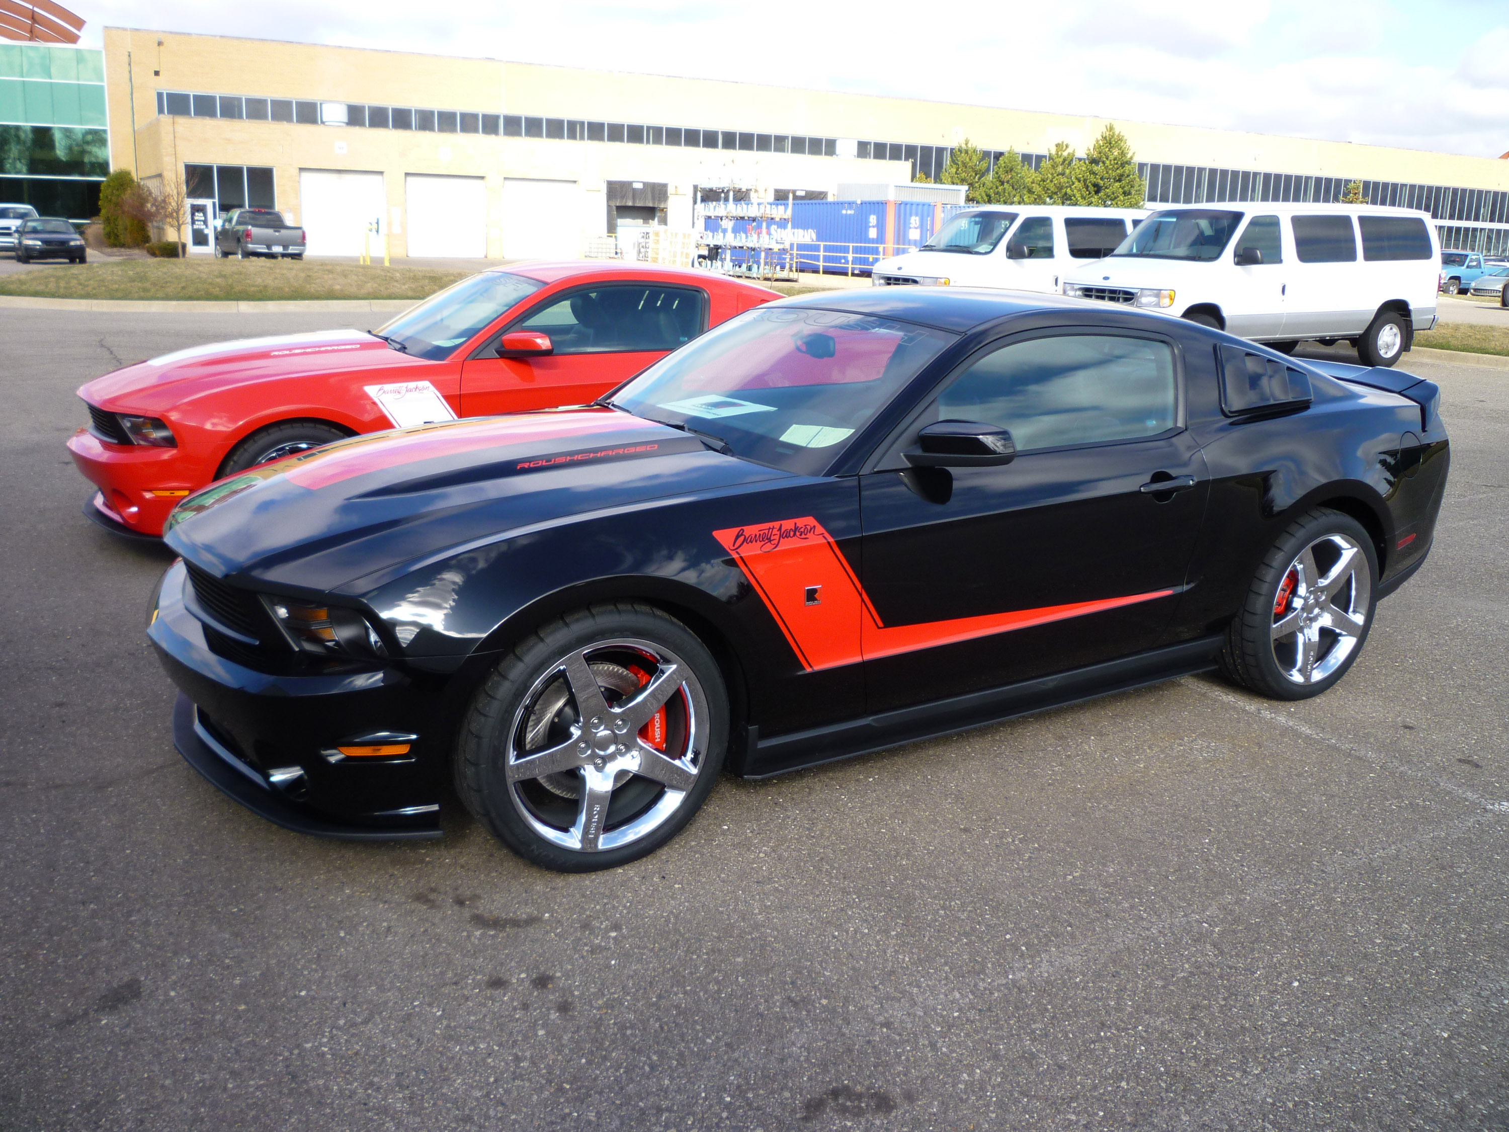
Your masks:
M88 429L68 438L68 454L100 489L95 510L130 534L160 537L178 500L214 478L213 468L199 468L181 448L109 444Z

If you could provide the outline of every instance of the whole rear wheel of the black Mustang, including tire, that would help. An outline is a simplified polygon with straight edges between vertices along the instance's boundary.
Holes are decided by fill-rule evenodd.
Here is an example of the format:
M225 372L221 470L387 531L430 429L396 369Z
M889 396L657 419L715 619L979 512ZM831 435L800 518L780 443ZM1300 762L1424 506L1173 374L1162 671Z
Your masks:
M1305 512L1252 575L1221 672L1277 700L1319 696L1363 652L1376 593L1378 552L1363 524L1326 507Z

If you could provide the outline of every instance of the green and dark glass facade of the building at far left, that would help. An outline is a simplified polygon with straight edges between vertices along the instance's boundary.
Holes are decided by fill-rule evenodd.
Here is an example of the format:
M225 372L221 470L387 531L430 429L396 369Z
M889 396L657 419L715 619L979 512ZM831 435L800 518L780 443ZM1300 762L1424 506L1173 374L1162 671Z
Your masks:
M0 44L0 201L85 220L109 172L104 53Z

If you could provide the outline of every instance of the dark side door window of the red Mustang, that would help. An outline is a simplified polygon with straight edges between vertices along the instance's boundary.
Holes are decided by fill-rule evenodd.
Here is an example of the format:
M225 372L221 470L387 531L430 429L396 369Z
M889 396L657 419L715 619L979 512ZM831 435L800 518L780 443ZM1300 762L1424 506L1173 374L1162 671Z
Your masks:
M596 287L548 303L518 329L548 334L557 355L675 350L702 334L705 302L690 287Z

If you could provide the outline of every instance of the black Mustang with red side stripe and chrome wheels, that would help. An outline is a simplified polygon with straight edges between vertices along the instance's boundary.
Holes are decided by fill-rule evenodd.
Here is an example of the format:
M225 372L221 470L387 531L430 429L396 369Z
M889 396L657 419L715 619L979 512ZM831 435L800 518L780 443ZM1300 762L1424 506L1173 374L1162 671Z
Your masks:
M1438 391L1156 314L886 288L602 403L361 436L186 500L175 738L327 836L447 779L557 869L767 776L1221 667L1302 699L1431 548Z

